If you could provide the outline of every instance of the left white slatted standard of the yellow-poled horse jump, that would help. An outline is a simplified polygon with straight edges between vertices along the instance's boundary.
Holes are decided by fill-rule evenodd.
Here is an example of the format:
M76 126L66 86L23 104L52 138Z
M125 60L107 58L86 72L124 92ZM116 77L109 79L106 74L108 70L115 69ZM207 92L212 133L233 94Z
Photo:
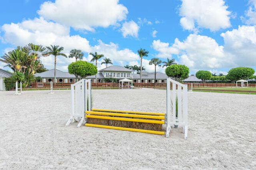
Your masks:
M91 111L91 79L82 79L75 84L71 84L71 116L66 123L68 126L71 122L79 121L77 127L85 122L85 111Z

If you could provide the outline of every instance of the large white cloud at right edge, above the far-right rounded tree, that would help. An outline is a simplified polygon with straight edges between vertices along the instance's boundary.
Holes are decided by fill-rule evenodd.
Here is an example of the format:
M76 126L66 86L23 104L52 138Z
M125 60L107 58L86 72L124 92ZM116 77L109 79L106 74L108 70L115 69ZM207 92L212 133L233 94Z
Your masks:
M221 36L224 38L224 50L232 61L232 66L256 65L255 26L239 26L238 29L226 31Z

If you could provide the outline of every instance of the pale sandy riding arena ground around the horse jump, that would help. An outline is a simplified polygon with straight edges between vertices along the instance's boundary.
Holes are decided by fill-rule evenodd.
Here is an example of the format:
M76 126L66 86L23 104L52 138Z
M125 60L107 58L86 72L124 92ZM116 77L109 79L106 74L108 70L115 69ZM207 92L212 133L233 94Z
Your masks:
M70 91L0 92L0 169L256 169L256 95L188 94L188 139L65 126ZM94 108L166 111L166 91L92 90Z

